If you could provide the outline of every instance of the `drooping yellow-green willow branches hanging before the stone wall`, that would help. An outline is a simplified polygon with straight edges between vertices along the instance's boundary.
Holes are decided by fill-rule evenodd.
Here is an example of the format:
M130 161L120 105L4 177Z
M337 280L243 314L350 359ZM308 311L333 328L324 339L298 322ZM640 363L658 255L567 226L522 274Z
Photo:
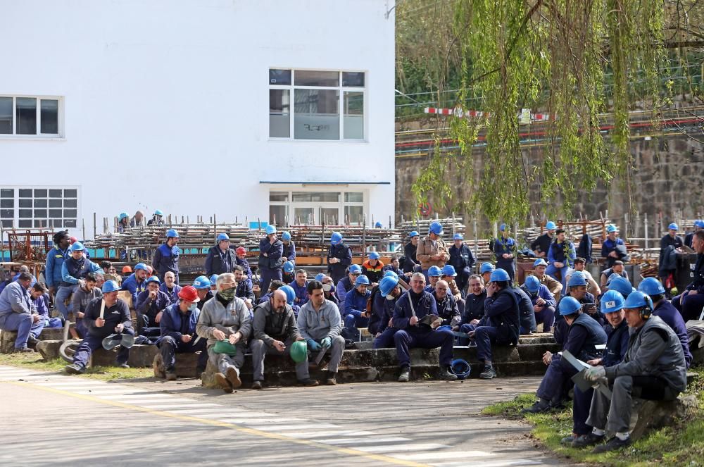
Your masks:
M662 105L664 0L456 0L453 31L462 58L463 89L479 87L484 115L467 118L460 92L449 132L453 158L470 199L456 198L439 144L413 185L420 203L476 208L490 220L525 220L530 187L543 206L569 214L582 192L599 182L623 184L630 202L629 108ZM608 72L608 73L607 73ZM645 86L634 92L631 80ZM606 92L606 87L610 88ZM539 156L522 151L521 109L547 113L546 144ZM608 139L600 131L611 113ZM473 144L486 137L482 164ZM531 156L532 154L532 156ZM479 170L479 173L475 171Z

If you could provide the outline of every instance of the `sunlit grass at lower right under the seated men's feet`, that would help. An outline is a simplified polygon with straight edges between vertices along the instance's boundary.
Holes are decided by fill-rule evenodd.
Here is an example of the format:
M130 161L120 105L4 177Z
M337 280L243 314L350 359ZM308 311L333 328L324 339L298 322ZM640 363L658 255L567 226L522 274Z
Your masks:
M534 425L532 436L555 454L570 462L607 466L704 466L704 367L691 368L698 373L683 395L697 397L698 410L686 420L653 430L627 449L604 454L591 454L591 449L574 449L560 444L572 432L572 407L560 412L520 414L521 409L536 401L534 394L522 394L513 401L499 402L482 413L507 418L524 418Z

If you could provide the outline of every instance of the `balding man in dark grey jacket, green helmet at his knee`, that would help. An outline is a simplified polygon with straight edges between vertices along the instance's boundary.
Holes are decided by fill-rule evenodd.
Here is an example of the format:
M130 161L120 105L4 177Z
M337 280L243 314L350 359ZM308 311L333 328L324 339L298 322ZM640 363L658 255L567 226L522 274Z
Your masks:
M254 367L252 389L261 389L266 354L288 356L292 344L304 339L301 332L298 332L294 310L286 303L286 294L282 289L275 290L268 302L256 307L252 328L253 339L250 343ZM310 379L307 355L306 359L296 363L296 380L299 385L318 386L318 381Z

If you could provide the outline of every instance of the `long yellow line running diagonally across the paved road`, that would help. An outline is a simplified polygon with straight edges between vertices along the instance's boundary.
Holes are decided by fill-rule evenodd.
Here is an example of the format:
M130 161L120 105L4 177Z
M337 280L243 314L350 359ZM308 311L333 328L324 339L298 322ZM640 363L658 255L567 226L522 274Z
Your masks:
M217 426L220 428L229 428L230 430L236 430L239 432L246 433L247 435L258 436L263 438L268 438L270 440L287 441L294 444L303 444L304 446L317 447L320 449L325 449L327 451L338 452L340 454L348 454L350 456L364 457L366 459L371 459L374 461L381 461L386 463L392 463L397 466L409 466L409 467L426 467L425 463L417 463L412 461L403 461L401 459L395 459L394 457L384 456L382 454L371 454L368 452L358 451L357 449L351 449L347 447L337 447L330 444L323 444L320 442L310 441L310 440L298 440L297 438L289 437L286 435L279 435L278 433L266 432L261 430L255 430L253 428L246 428L243 426L235 425L234 423L220 422L216 420L209 420L208 418L192 417L187 415L180 415L178 413L170 413L167 411L147 409L146 407L134 406L132 404L124 404L118 401L110 401L105 399L100 399L99 397L89 396L87 394L74 394L73 392L54 389L53 387L44 387L38 385L32 385L29 382L18 382L18 381L0 381L6 382L11 385L20 387L30 387L33 389L38 389L46 392L53 392L54 394L61 394L63 396L75 397L76 399L82 399L84 401L97 402L99 404L120 407L122 409L132 409L139 412L150 413L151 415L163 416L168 418L175 418L180 421L185 422L195 422L203 423L205 425ZM197 401L194 401L197 404ZM211 408L212 409L212 408ZM227 407L223 407L223 410L227 410Z

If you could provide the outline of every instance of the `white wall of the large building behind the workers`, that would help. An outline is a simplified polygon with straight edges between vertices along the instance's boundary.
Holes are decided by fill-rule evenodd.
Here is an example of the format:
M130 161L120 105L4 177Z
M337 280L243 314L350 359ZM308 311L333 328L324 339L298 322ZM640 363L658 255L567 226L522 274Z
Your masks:
M390 182L360 188L367 223L393 218L386 1L0 5L0 96L61 96L63 107L62 137L0 135L0 187L80 187L87 233L94 212L138 208L265 220L271 186L260 180ZM364 71L365 141L271 140L269 68Z

